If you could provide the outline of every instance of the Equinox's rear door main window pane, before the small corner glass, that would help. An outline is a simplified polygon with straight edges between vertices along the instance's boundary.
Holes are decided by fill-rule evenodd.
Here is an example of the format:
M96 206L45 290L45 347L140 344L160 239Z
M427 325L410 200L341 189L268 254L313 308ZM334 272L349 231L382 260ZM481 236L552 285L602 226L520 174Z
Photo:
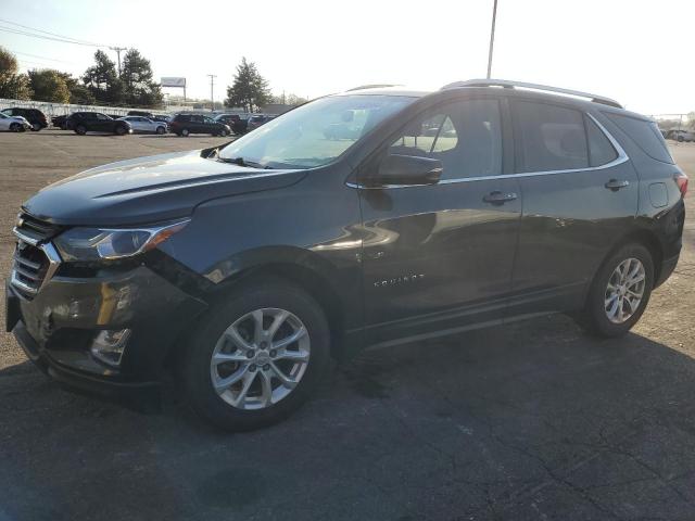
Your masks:
M518 171L571 170L589 167L589 147L581 112L564 106L517 101Z

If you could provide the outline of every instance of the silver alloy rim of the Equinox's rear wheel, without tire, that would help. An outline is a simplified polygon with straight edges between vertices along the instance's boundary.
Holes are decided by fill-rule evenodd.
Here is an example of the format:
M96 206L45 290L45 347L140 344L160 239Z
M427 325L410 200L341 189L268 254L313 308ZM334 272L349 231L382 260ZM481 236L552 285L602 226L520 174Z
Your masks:
M624 323L640 307L644 296L646 272L637 258L621 262L608 279L605 292L606 316L614 323Z

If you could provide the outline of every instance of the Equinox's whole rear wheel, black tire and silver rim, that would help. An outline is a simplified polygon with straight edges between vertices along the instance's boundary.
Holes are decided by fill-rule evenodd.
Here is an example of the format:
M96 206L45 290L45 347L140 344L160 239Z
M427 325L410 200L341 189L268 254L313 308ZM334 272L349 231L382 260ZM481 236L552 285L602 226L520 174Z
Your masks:
M579 317L580 326L595 336L622 336L642 317L653 287L654 260L649 251L639 243L620 247L594 277Z

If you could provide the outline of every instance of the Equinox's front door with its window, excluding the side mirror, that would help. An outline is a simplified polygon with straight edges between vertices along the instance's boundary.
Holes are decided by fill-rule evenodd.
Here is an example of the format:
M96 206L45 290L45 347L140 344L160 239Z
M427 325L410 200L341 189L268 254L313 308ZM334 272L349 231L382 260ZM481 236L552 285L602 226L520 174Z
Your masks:
M518 180L503 176L503 134L500 101L462 99L389 139L381 158L427 156L444 169L432 186L361 189L369 343L502 319L521 215Z

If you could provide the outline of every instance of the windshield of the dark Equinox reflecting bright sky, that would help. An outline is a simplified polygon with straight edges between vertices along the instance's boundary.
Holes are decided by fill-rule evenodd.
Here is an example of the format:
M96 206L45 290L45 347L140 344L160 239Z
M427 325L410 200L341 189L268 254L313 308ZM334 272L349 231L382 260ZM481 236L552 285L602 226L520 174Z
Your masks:
M269 120L225 147L219 156L270 168L327 165L413 101L403 96L321 98Z

